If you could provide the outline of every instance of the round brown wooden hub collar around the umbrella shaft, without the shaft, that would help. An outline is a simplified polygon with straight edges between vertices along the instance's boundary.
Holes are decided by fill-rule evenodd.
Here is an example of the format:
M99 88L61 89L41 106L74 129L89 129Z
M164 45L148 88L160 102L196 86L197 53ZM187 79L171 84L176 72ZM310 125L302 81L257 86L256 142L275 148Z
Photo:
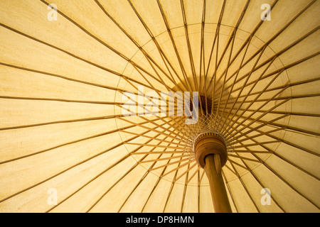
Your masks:
M206 165L206 156L220 155L221 167L225 165L228 159L225 140L217 133L201 133L193 143L196 162L201 167Z

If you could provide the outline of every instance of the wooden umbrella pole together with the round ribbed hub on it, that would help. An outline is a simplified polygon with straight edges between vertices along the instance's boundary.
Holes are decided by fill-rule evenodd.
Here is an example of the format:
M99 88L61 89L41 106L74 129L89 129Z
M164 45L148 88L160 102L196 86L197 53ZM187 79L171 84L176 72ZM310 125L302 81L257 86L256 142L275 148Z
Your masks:
M223 138L216 133L202 133L194 142L198 165L203 167L209 180L213 207L217 213L231 213L221 168L228 160Z

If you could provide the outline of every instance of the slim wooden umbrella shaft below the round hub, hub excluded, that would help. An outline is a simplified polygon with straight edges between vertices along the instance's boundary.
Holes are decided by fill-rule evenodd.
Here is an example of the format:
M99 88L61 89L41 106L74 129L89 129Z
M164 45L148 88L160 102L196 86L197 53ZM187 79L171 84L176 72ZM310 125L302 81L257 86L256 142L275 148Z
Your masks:
M204 170L209 180L213 207L217 213L231 213L228 194L221 175L220 155L207 155Z

